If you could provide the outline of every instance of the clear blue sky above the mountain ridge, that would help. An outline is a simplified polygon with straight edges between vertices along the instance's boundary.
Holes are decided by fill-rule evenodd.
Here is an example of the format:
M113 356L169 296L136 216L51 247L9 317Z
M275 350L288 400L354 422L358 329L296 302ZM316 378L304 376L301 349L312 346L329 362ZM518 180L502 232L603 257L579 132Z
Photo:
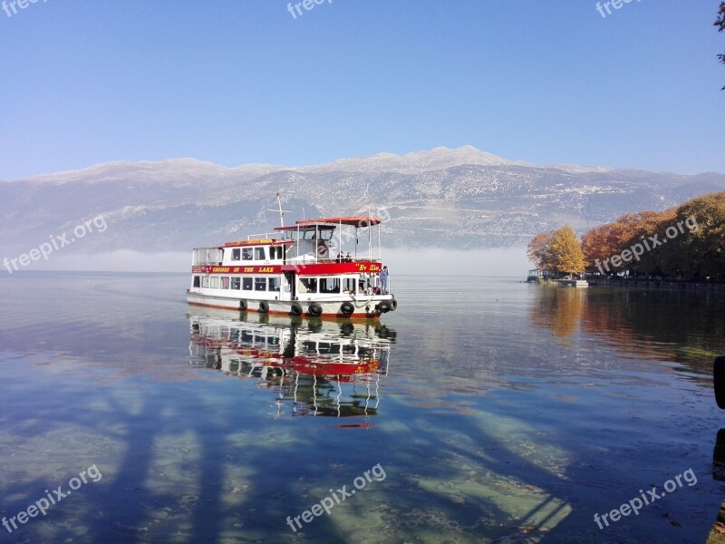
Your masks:
M0 180L108 160L293 166L465 144L535 163L725 171L718 0L633 0L606 18L595 5L0 11Z

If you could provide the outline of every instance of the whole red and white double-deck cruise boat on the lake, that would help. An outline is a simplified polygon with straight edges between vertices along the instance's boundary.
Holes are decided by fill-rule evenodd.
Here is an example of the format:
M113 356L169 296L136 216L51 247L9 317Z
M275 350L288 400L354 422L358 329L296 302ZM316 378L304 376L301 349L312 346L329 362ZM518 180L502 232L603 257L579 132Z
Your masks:
M281 208L281 225L273 233L194 248L190 305L367 319L398 307L381 280L382 219L301 219L285 227Z

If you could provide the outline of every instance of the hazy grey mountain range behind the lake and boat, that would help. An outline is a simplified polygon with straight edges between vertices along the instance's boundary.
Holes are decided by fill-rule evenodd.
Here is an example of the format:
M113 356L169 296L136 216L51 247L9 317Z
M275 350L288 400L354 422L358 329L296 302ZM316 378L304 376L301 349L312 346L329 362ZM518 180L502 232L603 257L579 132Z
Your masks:
M725 189L725 174L536 166L464 146L308 167L226 168L194 159L108 162L0 182L0 257L15 257L102 216L107 228L66 252L188 251L269 231L279 192L287 224L386 209L387 246L521 246L564 223L579 233L642 209Z

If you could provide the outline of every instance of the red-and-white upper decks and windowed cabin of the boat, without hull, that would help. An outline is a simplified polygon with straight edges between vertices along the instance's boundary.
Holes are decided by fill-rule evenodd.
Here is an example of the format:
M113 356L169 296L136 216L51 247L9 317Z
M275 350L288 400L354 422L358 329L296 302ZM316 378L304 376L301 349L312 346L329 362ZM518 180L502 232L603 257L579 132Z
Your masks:
M195 248L192 289L270 302L382 295L380 225L370 216L304 219L274 233Z

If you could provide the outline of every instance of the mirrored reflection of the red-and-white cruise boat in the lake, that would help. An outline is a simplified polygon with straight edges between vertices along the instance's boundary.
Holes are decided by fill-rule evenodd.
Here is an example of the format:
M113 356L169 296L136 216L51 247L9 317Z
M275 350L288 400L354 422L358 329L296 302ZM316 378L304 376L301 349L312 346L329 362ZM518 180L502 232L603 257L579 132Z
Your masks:
M238 316L238 315L237 315ZM199 309L189 313L191 364L254 380L276 393L277 413L361 416L380 403L395 332L376 320L327 321ZM366 423L341 424L365 427Z

